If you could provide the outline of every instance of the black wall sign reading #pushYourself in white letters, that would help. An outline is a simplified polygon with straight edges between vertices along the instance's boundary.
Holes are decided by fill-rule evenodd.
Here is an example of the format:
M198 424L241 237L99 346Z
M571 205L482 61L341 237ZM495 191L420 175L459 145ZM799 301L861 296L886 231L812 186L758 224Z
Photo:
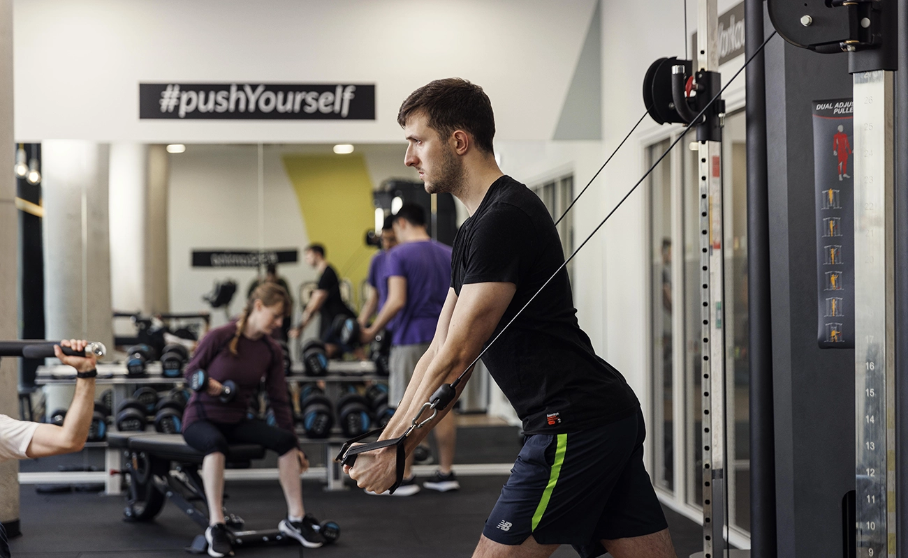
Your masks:
M375 84L139 83L139 118L375 120Z

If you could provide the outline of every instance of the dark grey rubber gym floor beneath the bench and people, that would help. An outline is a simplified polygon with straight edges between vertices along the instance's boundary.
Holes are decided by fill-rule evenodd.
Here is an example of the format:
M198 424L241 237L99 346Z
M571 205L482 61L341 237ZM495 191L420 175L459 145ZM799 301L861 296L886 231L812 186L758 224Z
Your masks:
M519 450L516 429L470 428L469 433L459 434L459 463L504 463L508 455L512 462ZM57 465L79 465L85 461L94 464L100 457L94 453L24 462L22 470L54 470ZM409 497L371 496L355 486L342 493L326 493L321 483L304 481L306 510L341 524L337 544L306 550L305 555L469 556L506 480L502 475L461 477L459 492L439 494L424 490ZM286 514L277 481L229 482L226 492L229 497L224 504L245 519L246 529L273 529ZM122 496L37 494L34 485L22 485L20 494L23 535L11 541L14 558L191 556L183 547L202 531L170 503L164 504L153 523L130 524L123 522ZM680 558L702 550L699 525L667 509L666 517ZM241 549L236 555L281 557L302 553L299 546L259 546ZM554 556L564 558L577 553L562 546Z

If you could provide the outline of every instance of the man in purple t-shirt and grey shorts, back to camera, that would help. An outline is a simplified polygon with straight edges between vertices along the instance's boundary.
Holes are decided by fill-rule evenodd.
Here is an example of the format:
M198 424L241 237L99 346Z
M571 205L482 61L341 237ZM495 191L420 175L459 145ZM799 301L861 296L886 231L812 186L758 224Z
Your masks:
M404 203L393 216L394 236L399 245L385 257L388 299L369 328L363 328L362 341L369 342L394 319L391 334L390 402L403 398L419 358L429 348L439 325L439 315L448 297L451 279L451 249L429 237L426 212L415 203ZM457 490L460 485L451 471L457 426L449 413L434 429L439 445L439 470L423 486L440 492ZM407 459L404 480L394 495L419 492L411 475L412 455Z

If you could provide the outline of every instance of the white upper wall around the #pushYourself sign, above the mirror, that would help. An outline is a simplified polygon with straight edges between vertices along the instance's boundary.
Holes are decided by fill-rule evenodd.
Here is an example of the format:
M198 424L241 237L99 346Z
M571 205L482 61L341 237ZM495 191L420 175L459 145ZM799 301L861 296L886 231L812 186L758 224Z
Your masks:
M552 137L596 0L15 0L15 137L397 142L401 101L482 85L503 139ZM376 83L375 122L140 121L140 82Z

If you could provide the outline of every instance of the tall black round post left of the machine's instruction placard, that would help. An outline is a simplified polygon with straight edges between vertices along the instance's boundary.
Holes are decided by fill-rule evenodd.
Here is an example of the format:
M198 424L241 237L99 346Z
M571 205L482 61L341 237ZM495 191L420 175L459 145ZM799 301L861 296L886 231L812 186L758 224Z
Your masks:
M763 0L745 0L746 58L763 41ZM750 368L750 552L775 558L775 425L769 292L764 54L747 66L747 297Z

